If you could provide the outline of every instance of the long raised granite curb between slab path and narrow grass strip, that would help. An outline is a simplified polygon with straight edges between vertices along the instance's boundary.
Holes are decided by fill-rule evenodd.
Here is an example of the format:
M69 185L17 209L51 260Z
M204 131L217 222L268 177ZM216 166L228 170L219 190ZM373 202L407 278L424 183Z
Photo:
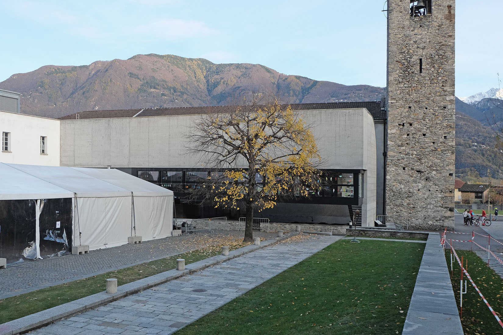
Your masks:
M218 255L195 263L187 264L185 266L185 270L183 271L173 269L131 283L120 285L117 287L117 293L111 294L104 291L77 300L73 300L34 314L26 315L19 319L0 324L0 335L15 335L39 328L54 321L61 320L65 317L104 305L106 303L110 303L112 301L124 298L128 295L253 252L260 248L268 247L298 234L298 232L291 232L291 234L282 238L274 238L272 240L261 241L260 245L258 246L249 245L243 248L229 251L228 256Z

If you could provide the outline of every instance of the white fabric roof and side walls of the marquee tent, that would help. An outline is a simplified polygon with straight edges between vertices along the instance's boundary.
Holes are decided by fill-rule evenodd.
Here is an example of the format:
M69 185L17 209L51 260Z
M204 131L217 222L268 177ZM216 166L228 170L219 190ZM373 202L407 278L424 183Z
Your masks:
M94 250L126 244L130 236L172 235L173 191L122 171L0 163L0 173L0 200L37 200L37 246L44 199L72 199L71 245Z

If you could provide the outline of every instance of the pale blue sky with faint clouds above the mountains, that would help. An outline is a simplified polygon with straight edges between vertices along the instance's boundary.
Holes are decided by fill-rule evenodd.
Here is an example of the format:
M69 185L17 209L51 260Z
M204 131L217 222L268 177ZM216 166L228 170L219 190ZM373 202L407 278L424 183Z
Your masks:
M384 3L3 2L0 81L43 65L87 65L156 53L214 63L259 63L316 80L384 86ZM496 0L456 1L456 96L497 87L497 73L503 74L502 9Z

